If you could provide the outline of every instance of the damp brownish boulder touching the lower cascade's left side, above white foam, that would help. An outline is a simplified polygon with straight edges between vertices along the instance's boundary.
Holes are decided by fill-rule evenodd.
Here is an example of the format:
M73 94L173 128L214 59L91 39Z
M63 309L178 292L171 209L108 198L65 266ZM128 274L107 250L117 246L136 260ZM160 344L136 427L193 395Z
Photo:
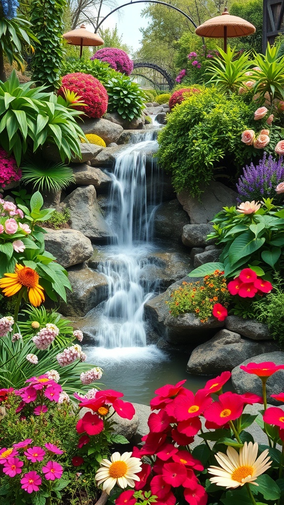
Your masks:
M84 316L108 296L106 277L85 265L68 269L73 292L67 290L67 302L61 301L60 313L68 317Z

